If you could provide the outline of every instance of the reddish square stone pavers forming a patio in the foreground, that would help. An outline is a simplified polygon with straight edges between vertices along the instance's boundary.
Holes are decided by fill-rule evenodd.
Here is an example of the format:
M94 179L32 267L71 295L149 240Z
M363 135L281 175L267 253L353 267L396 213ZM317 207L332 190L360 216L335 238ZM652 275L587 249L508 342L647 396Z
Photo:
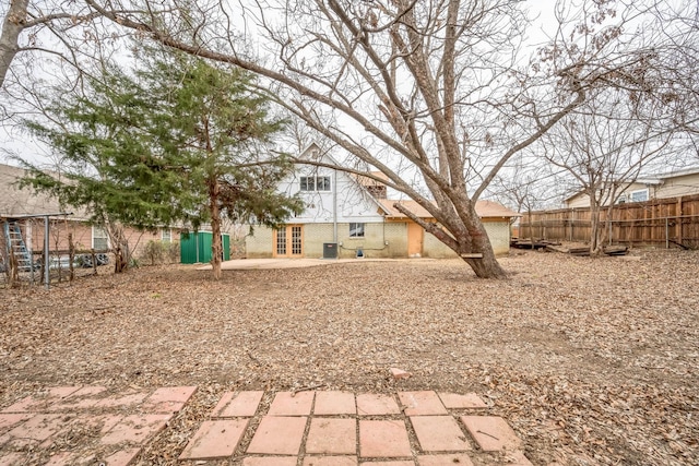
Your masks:
M194 386L108 393L54 387L0 409L0 466L138 463ZM180 464L242 466L531 465L522 442L475 394L228 392L179 454ZM128 414L125 414L128 413ZM137 414L133 414L137 413ZM80 434L97 438L90 457ZM92 435L92 437L90 437ZM83 455L83 456L81 456ZM32 462L27 463L27 459ZM38 461L38 463L36 463Z

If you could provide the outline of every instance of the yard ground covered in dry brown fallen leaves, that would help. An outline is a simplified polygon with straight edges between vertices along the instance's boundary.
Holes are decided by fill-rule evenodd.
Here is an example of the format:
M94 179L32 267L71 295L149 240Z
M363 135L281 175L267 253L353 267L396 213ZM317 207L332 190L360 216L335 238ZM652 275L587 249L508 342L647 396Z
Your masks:
M501 263L497 282L412 260L0 289L0 406L63 384L199 385L141 459L171 464L225 390L474 391L536 465L699 464L699 252Z

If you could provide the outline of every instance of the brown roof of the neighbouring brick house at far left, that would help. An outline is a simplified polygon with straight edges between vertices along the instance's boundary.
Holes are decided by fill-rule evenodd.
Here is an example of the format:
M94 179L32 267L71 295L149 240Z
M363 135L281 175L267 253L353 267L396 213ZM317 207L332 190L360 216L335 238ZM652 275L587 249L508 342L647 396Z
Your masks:
M26 171L20 167L0 164L0 217L13 218L28 215L59 214L66 212L56 198L37 193L29 187L16 184ZM83 212L69 210L75 216L86 217Z

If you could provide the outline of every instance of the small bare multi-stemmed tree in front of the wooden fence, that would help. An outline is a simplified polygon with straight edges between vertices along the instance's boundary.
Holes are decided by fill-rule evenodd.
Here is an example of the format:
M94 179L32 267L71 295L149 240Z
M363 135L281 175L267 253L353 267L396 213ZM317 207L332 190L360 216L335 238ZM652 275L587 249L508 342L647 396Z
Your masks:
M642 170L661 159L675 157L667 151L674 129L657 128L654 118L664 111L660 101L650 101L640 119L641 104L624 91L613 89L588 100L566 116L543 144L544 157L574 178L576 188L590 200L590 252L603 247L606 229L601 212L612 208L619 195Z

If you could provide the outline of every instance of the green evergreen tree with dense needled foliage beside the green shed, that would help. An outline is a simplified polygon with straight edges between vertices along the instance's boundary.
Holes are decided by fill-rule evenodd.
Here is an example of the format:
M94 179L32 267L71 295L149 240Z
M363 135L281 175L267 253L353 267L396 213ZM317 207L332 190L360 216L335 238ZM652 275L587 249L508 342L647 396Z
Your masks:
M141 49L142 67L117 67L88 80L83 94L57 94L49 121L25 121L61 159L61 178L27 165L25 183L84 206L110 234L116 271L128 266L121 226L156 229L209 223L212 265L221 277L224 217L276 227L301 202L275 191L293 170L272 157L270 119L249 74L181 53Z

